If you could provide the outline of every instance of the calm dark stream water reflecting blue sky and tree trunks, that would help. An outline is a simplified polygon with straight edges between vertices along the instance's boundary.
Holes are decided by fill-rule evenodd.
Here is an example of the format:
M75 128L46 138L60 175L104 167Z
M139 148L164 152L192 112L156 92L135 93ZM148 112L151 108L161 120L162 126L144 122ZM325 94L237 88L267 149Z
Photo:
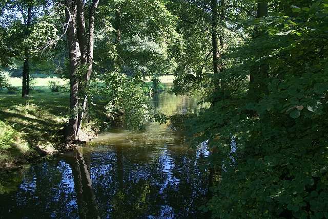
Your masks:
M167 115L198 108L194 98L169 94L151 103ZM165 124L112 130L15 173L0 194L0 218L203 218L207 156L206 146L190 149Z

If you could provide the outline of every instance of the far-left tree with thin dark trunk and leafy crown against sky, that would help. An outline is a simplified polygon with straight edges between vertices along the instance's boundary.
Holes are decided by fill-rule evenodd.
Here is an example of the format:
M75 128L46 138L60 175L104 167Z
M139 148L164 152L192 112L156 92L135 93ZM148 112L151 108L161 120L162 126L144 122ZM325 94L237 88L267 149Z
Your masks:
M37 25L37 20L48 13L48 8L51 5L50 0L12 0L2 8L3 28L7 29L11 35L7 38L7 63L8 59L22 61L22 97L26 98L30 91L30 65L33 59L32 45L30 36L33 28ZM42 38L40 37L38 38ZM4 37L6 38L6 37ZM12 60L11 60L12 61ZM20 64L19 64L20 65Z

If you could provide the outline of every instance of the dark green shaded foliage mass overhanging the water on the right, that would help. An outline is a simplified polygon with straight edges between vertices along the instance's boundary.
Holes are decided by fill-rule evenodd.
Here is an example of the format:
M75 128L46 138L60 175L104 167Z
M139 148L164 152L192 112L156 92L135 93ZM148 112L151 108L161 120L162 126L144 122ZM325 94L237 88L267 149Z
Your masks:
M213 93L219 101L191 123L199 141L210 139L221 172L204 207L213 217L328 216L328 5L270 4L284 10L252 22L245 45L229 54L234 64L219 76L226 84ZM263 66L252 93L248 76Z

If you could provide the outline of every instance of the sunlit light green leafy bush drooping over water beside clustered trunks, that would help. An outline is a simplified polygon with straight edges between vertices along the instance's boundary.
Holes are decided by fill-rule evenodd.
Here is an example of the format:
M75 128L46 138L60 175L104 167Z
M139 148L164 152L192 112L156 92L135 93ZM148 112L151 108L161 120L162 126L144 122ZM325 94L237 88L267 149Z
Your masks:
M121 121L129 128L143 128L149 121L164 122L165 117L154 111L142 90L141 77L128 77L108 72L101 77L96 91L110 121ZM95 103L92 103L95 104Z

